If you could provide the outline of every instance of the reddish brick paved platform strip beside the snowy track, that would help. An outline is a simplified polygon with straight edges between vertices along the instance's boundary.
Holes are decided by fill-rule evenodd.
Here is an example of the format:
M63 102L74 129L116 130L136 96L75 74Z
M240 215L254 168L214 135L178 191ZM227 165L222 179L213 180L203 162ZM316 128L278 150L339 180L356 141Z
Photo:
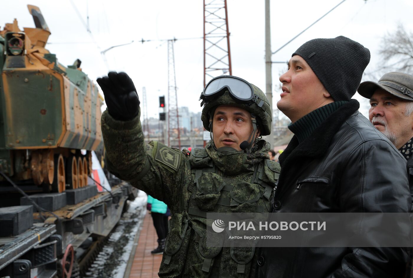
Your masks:
M152 217L147 213L142 223L142 230L140 231L129 278L158 277L162 255L151 254L151 251L158 247L157 239Z

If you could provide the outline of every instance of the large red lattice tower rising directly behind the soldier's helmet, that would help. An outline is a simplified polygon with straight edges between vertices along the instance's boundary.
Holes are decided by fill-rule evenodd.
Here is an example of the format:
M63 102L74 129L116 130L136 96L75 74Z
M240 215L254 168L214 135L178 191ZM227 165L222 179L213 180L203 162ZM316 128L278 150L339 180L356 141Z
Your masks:
M219 75L232 75L226 0L204 0L204 87Z

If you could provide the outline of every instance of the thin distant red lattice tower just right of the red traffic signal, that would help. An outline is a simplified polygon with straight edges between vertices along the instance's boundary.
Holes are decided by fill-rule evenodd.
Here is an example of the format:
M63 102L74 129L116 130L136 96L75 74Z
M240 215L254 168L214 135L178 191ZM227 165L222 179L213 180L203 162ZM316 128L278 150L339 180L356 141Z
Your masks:
M168 146L171 147L172 139L178 139L180 149L180 130L178 114L178 97L176 95L175 56L173 42L168 40Z

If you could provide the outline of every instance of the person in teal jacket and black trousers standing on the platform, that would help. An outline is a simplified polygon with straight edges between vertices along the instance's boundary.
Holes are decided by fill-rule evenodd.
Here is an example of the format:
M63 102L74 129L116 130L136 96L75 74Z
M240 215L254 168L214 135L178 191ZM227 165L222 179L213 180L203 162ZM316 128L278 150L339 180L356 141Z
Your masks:
M168 235L168 217L171 215L168 206L148 195L147 209L151 212L154 227L158 235L158 247L151 251L152 255L164 254L166 236Z

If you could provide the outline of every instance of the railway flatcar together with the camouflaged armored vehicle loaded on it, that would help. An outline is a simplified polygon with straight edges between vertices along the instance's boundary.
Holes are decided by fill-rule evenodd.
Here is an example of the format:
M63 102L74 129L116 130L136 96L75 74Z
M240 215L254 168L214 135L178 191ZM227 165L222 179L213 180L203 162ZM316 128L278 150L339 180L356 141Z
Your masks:
M97 192L103 99L80 60L65 67L45 48L49 28L28 10L36 28L0 31L0 277L79 278L137 191L110 179Z

